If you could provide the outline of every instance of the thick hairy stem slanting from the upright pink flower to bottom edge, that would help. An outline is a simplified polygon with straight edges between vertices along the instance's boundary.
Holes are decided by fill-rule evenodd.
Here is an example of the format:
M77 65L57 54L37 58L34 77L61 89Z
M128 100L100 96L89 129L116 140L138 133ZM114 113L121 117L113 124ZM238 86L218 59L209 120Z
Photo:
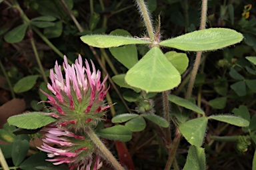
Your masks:
M97 146L97 148L103 153L104 157L107 158L105 161L108 161L110 164L115 167L117 170L125 170L121 164L115 159L112 153L107 149L107 147L102 143L101 139L94 133L93 129L90 127L87 128L87 135L91 138L93 143Z

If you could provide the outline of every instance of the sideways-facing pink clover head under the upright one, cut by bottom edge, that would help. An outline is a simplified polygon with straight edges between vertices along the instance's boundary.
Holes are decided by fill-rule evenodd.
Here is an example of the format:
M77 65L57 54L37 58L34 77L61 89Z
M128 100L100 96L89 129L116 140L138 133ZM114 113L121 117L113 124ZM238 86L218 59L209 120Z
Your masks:
M102 162L99 154L95 153L95 145L89 137L76 135L65 128L57 128L53 125L45 126L39 133L44 134L43 145L37 147L47 153L46 161L53 165L67 163L69 169L100 169ZM93 163L93 153L95 161Z

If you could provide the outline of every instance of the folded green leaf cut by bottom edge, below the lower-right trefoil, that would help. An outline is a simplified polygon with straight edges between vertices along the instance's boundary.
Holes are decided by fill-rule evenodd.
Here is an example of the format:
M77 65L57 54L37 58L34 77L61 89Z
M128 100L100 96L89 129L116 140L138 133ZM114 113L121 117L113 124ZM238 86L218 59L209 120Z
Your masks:
M205 149L192 145L183 170L205 170Z

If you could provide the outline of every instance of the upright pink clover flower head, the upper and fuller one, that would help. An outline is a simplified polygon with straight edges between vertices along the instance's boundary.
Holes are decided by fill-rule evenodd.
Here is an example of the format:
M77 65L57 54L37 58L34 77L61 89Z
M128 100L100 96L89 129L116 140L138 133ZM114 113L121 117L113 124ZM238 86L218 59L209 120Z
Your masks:
M47 88L53 94L41 90L48 97L47 102L53 106L57 124L67 126L67 129L79 131L97 125L110 107L104 104L109 90L104 84L107 76L101 82L101 72L96 70L92 61L91 68L87 60L83 66L81 55L71 65L64 56L64 76L57 61L54 69L50 70L51 83L47 84Z

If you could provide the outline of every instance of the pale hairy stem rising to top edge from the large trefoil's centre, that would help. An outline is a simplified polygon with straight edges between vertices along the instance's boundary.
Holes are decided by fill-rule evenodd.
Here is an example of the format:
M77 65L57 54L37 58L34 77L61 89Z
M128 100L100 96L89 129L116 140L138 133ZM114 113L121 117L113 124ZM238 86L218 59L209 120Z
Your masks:
M141 13L141 17L143 18L143 21L147 28L147 33L149 34L149 38L154 41L155 39L155 31L153 30L152 23L151 23L151 17L149 15L149 11L147 9L147 6L145 5L145 2L143 0L137 0L137 6L139 9L139 13Z

